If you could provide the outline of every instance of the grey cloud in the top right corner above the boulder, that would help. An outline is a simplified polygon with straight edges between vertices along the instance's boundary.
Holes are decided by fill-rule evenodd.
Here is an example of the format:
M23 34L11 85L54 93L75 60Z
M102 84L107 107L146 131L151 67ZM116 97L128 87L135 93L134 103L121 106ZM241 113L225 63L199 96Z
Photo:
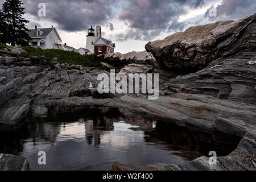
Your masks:
M255 0L223 0L221 5L216 7L217 16L209 16L209 11L205 13L205 17L212 20L240 19L247 15L256 13Z

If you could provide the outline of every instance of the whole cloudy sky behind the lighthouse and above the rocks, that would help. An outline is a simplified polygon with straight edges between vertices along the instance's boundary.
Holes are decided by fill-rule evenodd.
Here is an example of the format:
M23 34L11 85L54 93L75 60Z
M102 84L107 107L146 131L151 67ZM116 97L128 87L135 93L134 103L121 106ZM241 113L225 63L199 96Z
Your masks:
M5 0L0 0L0 6ZM85 47L90 26L116 43L115 52L143 51L147 42L188 27L240 19L256 13L255 0L22 0L24 18L41 28L57 28L63 43ZM46 17L38 16L46 3Z

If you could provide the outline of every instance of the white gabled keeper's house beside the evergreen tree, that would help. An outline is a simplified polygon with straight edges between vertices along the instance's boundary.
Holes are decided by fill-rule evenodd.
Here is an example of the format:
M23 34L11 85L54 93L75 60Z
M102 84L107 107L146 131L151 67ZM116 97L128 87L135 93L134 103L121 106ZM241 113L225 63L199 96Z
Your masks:
M31 47L40 47L42 49L63 49L65 50L62 40L56 28L38 28L28 31L28 35L32 39L30 42Z

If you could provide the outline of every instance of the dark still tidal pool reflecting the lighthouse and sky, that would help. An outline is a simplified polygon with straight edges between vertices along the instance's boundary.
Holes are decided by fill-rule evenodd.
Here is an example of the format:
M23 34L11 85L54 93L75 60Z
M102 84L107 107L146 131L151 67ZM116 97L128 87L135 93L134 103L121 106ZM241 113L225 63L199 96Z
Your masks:
M240 140L109 107L53 109L47 118L0 125L0 153L25 156L31 170L110 170L114 162L179 163L208 156L209 151L228 155ZM38 164L39 151L46 152L46 165Z

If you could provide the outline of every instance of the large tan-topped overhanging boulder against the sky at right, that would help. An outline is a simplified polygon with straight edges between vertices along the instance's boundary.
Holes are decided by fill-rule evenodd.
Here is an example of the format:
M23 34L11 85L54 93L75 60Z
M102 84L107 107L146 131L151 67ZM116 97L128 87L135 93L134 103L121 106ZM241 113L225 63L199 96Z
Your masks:
M146 44L159 65L180 73L198 71L221 56L239 55L256 49L256 14L237 21L224 21L188 28L163 40Z

